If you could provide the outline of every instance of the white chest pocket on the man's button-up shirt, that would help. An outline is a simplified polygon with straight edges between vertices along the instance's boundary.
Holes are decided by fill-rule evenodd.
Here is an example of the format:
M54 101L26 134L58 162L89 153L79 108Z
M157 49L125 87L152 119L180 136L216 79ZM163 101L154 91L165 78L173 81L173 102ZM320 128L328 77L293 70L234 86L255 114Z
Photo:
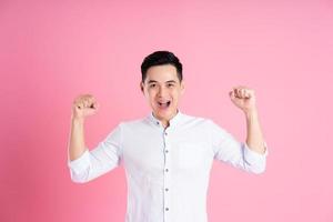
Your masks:
M179 167L181 169L198 169L204 163L205 152L200 144L180 144Z

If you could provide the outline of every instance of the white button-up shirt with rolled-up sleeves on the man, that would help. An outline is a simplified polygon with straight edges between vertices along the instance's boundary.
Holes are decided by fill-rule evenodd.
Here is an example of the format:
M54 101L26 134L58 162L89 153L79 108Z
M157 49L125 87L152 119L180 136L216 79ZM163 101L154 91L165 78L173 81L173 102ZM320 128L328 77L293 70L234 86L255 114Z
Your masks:
M120 123L95 149L68 164L79 183L123 164L127 222L206 222L213 160L262 173L266 155L268 149L264 154L250 150L211 120L178 112L164 129L151 113Z

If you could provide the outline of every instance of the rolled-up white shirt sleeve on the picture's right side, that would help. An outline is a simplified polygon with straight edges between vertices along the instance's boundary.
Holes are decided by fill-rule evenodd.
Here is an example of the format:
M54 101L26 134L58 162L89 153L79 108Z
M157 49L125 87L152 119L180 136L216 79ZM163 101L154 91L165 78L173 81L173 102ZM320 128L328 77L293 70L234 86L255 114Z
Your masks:
M268 145L265 152L251 150L245 142L239 142L228 131L210 121L211 142L214 159L252 173L263 173L266 165Z

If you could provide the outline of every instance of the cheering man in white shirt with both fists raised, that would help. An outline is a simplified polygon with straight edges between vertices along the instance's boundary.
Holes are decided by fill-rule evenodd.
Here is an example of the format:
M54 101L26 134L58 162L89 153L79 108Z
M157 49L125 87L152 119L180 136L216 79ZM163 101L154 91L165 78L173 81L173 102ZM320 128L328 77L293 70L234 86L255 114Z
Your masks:
M230 92L231 101L246 119L246 141L238 142L213 121L180 112L182 64L172 52L148 56L141 72L141 91L152 112L141 120L120 123L91 151L84 144L83 123L99 105L89 94L74 100L69 144L71 179L88 182L123 163L127 222L206 222L214 159L252 173L265 170L268 151L254 91L236 87Z

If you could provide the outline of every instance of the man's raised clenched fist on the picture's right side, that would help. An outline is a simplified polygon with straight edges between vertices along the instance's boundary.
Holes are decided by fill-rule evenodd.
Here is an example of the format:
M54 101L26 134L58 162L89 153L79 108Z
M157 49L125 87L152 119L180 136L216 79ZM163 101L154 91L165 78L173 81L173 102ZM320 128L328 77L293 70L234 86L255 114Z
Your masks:
M244 112L255 110L254 90L246 87L234 87L229 92L231 101Z

